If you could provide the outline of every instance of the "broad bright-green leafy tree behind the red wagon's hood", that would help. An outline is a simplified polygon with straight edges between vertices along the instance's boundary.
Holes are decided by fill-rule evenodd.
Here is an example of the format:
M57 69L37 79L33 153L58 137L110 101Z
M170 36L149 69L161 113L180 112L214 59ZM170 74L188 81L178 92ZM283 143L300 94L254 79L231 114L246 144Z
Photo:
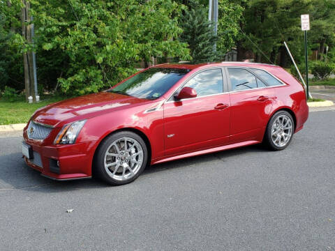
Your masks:
M142 59L187 59L180 11L171 0L31 0L39 82L82 95L128 77Z

